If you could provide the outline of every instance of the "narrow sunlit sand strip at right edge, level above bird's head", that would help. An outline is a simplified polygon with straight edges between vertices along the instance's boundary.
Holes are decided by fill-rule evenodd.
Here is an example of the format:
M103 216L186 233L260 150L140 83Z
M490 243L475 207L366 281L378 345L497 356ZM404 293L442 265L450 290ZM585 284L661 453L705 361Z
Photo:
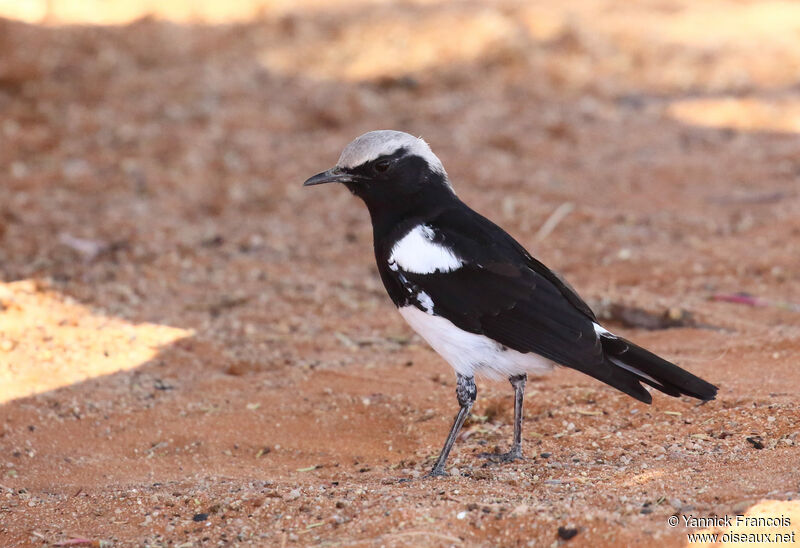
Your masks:
M800 97L688 99L670 105L669 114L680 122L703 127L800 132Z

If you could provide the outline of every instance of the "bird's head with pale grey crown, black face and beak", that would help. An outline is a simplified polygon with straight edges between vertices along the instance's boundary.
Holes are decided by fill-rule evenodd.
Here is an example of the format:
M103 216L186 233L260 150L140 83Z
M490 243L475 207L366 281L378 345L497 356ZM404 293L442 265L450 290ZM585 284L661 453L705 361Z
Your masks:
M372 210L421 194L453 194L442 162L420 138L380 130L347 145L336 165L303 186L342 183Z

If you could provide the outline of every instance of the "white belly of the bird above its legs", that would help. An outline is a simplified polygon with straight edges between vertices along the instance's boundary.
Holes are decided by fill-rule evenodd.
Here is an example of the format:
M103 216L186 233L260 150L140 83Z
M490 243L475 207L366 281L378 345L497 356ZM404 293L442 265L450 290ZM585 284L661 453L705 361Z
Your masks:
M537 354L523 354L505 348L485 335L464 331L450 320L427 314L415 306L398 310L414 331L464 376L477 374L497 379L522 373L541 375L555 365Z

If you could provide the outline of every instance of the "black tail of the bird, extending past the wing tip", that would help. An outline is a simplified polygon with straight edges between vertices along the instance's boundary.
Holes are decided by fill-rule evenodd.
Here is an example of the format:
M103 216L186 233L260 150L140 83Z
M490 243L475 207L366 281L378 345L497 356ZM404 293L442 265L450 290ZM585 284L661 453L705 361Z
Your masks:
M670 396L685 394L699 400L713 400L717 395L713 384L626 339L606 332L600 335L600 343L609 367L603 368L603 377L607 378L598 378L639 401L653 400L640 382Z

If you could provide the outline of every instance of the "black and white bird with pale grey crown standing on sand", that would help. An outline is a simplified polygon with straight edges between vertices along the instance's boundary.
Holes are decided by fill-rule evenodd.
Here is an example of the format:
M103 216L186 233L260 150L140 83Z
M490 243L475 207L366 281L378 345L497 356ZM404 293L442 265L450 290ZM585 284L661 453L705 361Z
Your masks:
M400 315L456 373L458 413L426 477L445 463L477 397L475 376L506 378L514 389L510 450L523 458L527 375L576 369L651 403L648 385L670 396L712 400L713 384L603 327L560 275L456 195L430 146L411 134L370 131L336 165L304 186L341 183L372 221L381 281Z

